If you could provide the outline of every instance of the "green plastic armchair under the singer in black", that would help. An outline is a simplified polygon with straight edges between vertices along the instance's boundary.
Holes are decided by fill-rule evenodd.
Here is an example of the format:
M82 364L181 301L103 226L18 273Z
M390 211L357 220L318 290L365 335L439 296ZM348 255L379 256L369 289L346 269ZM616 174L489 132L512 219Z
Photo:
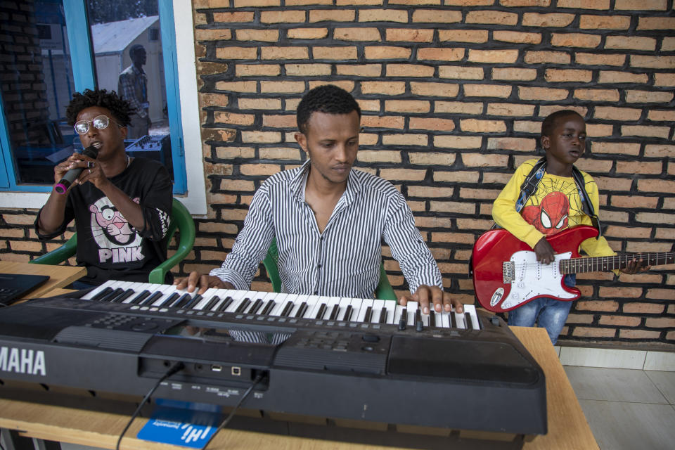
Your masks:
M179 202L178 199L174 198L172 209L171 209L171 223L169 224L169 229L167 230L167 236L163 240L163 244L167 245L171 239L174 237L176 229L180 231L180 240L178 243L178 248L174 255L169 257L165 262L162 262L160 265L155 267L150 271L148 276L149 283L155 284L164 284L165 276L169 270L179 262L181 262L192 250L193 245L195 244L195 222L190 215L190 212L187 208ZM32 264L60 264L66 259L75 255L77 251L77 233L72 235L72 238L68 239L65 244L61 245L59 248L52 250L49 253L45 253L41 257L37 257L31 261Z

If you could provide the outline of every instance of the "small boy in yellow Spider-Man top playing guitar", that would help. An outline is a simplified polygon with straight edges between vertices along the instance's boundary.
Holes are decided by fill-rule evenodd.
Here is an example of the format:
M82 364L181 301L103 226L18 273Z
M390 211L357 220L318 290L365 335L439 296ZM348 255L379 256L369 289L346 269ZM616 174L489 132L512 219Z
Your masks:
M536 188L532 195L529 198L522 198L521 186L537 162L534 159L522 163L516 169L499 197L494 200L492 217L496 224L523 243L527 243L527 246L534 250L536 262L541 263L542 267L554 268L555 265L551 263L560 258L556 258L556 252L547 237L553 242L555 239L553 236L560 231L578 225L591 225L589 214L594 216L593 219L597 219L594 212L599 208L598 186L589 174L574 167L574 162L584 154L586 147L586 122L581 115L573 110L560 110L546 117L541 124L541 146L546 151L546 162L534 175ZM577 172L577 182L573 172ZM582 183L583 186L579 188L578 183ZM583 198L584 191L590 205ZM584 237L586 236L589 236L587 231ZM577 252L577 248L572 250L574 253ZM616 255L603 237L586 238L581 242L581 250L591 257ZM534 262L531 265L534 265ZM642 259L624 259L621 265L623 266L621 271L626 274L649 269L642 265ZM501 273L502 268L498 269ZM504 271L507 271L506 264ZM574 286L576 283L574 274L569 274L569 271L563 273L567 273L565 285ZM522 279L520 288L527 290L525 285L529 281L534 282ZM479 283L476 278L474 283L476 286ZM493 302L501 300L501 294L491 295ZM573 300L576 297L568 298ZM509 309L508 324L534 326L537 323L538 326L546 328L551 342L555 345L560 331L565 326L570 307L572 307L570 301L535 296L533 300L522 302L515 309Z

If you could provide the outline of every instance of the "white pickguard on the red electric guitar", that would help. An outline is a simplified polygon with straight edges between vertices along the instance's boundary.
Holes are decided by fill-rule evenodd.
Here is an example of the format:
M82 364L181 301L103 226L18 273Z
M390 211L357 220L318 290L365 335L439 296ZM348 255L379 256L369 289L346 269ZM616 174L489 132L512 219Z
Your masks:
M572 252L555 255L555 262L541 264L536 261L536 254L522 250L511 255L504 265L513 275L510 280L511 289L500 307L512 309L534 297L553 297L558 300L574 300L578 295L569 293L563 288L563 276L560 273L560 260L569 259ZM506 268L505 268L506 274ZM504 283L507 283L506 276Z

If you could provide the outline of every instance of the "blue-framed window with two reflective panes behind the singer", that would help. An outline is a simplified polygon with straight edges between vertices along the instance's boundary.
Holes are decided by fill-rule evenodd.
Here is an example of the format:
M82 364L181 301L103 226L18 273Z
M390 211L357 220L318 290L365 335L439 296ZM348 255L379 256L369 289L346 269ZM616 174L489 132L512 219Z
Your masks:
M0 190L51 189L53 166L82 148L65 108L75 91L98 87L139 112L127 152L159 160L174 193L186 191L170 2L4 2L0 23ZM122 72L139 75L136 84L123 83Z

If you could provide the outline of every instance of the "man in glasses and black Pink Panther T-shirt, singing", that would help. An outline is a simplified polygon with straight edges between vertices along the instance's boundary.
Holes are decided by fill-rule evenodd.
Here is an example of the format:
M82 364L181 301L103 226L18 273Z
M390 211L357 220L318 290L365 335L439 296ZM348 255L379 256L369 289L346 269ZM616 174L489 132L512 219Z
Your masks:
M132 112L127 101L105 89L75 93L66 109L82 146L93 146L98 156L73 153L54 167L56 184L71 170L82 172L65 193L52 189L35 230L41 239L54 238L75 219L76 260L87 269L73 283L78 289L108 279L147 283L150 271L167 259L161 241L169 225L171 178L159 162L125 152Z

